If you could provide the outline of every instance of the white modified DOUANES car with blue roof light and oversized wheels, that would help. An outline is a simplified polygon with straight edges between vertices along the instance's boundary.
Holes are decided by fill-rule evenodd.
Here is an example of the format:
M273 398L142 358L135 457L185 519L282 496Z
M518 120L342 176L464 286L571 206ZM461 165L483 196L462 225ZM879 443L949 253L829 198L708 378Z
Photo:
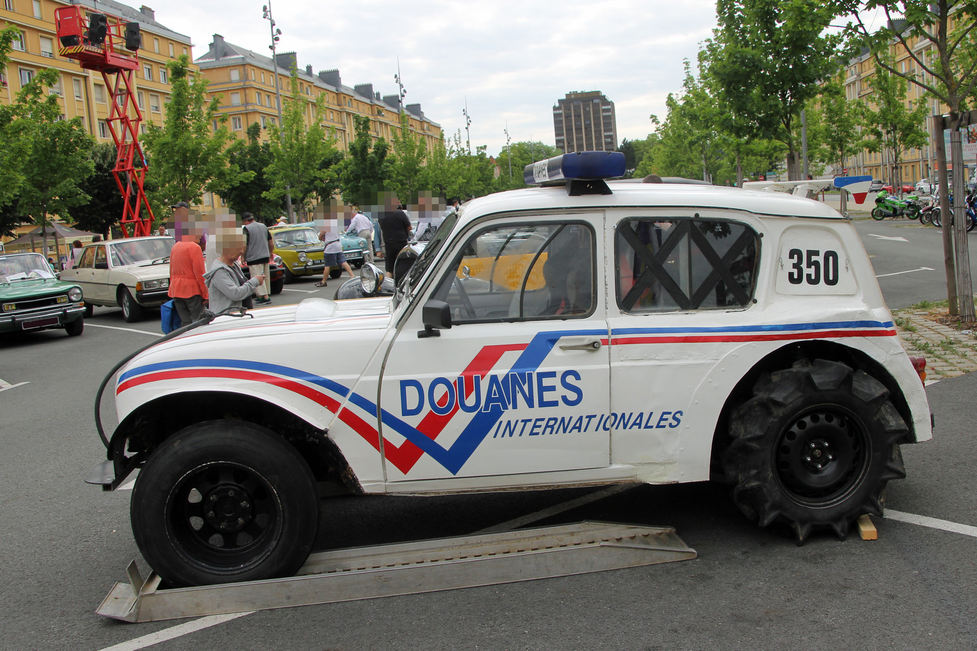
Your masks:
M931 416L852 223L790 195L602 180L622 172L616 153L536 163L542 187L447 217L393 297L222 317L126 364L94 483L142 467L152 568L177 586L293 573L318 482L711 478L798 542L879 515Z

